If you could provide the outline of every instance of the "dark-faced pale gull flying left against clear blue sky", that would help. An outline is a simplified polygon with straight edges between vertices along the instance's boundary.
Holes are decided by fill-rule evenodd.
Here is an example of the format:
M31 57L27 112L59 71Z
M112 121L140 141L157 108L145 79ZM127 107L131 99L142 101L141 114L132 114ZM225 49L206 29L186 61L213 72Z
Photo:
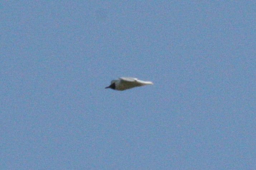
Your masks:
M123 91L123 90L127 90L134 87L145 86L148 84L153 84L153 83L148 81L138 80L137 78L132 78L132 77L120 77L115 80L112 80L110 86L106 88L112 88L114 90Z

